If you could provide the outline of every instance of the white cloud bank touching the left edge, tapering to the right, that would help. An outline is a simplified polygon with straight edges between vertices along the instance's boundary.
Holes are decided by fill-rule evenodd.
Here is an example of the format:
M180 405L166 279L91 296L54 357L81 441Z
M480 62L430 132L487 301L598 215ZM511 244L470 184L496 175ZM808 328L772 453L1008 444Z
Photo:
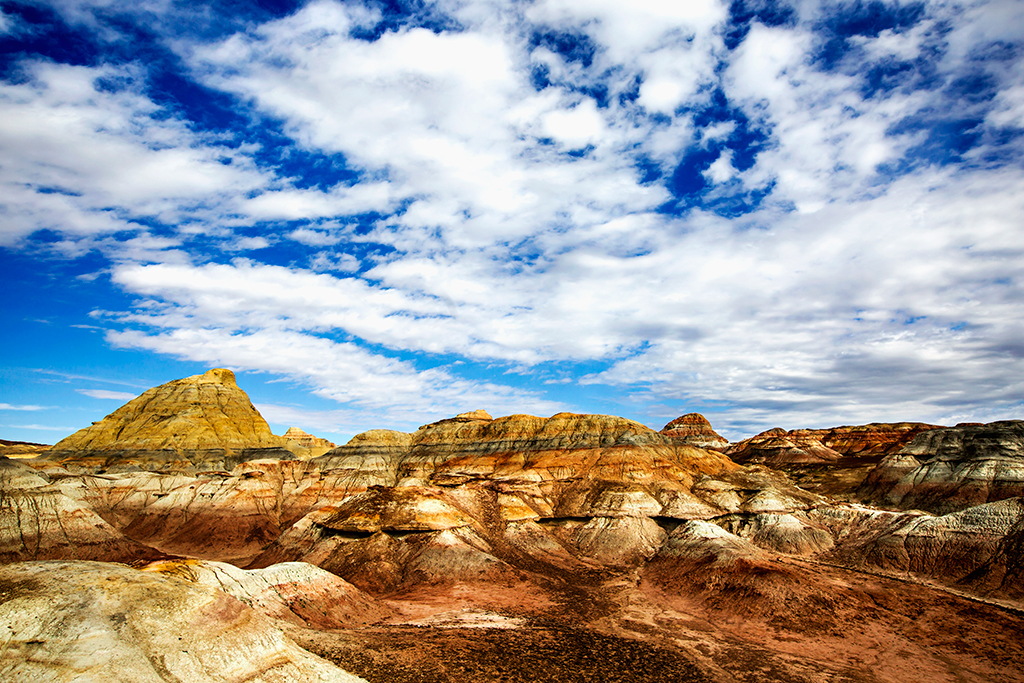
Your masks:
M20 69L24 82L0 83L0 244L42 228L75 237L134 231L133 217L187 220L265 182L237 151L160 116L131 68Z

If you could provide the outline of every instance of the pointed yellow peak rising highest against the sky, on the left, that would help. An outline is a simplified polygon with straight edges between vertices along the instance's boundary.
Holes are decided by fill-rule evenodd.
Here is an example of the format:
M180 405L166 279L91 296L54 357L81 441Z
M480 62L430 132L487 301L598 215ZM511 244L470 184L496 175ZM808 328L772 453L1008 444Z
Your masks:
M145 391L60 440L43 459L76 472L195 472L291 459L286 445L270 433L234 374L217 369Z

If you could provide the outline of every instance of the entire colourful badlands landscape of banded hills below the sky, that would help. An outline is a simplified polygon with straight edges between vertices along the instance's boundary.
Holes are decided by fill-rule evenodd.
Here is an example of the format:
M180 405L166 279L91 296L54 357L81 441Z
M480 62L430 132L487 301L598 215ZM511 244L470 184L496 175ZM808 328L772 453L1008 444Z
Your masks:
M322 441L212 370L0 459L0 680L1024 681L1024 422Z

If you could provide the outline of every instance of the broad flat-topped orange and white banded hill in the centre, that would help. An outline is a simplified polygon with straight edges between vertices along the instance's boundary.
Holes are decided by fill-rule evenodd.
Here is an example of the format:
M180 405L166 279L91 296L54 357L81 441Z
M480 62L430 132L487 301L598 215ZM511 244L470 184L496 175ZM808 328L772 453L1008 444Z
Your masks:
M635 566L681 520L819 501L630 420L567 413L376 430L310 464L365 489L311 511L253 566L302 560L385 592Z

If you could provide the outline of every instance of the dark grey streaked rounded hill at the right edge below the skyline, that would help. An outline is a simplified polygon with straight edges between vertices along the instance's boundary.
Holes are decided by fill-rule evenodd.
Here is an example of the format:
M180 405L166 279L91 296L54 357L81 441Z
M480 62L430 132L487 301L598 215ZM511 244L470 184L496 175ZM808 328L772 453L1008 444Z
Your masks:
M1024 496L1024 421L921 433L871 470L861 496L939 513Z

